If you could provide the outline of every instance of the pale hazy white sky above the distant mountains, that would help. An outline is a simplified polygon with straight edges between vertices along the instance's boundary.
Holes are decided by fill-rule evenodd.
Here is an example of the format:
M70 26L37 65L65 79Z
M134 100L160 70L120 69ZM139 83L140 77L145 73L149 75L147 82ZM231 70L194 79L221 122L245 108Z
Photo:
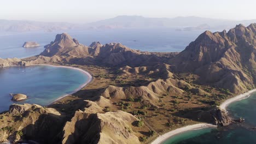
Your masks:
M0 19L90 22L118 15L256 19L255 0L8 0Z

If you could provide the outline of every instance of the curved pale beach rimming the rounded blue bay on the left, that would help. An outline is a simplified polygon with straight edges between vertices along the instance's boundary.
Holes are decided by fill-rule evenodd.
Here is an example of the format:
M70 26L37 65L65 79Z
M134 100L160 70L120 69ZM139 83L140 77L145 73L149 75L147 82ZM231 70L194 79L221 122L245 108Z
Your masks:
M85 70L83 70L83 69L74 68L74 67L68 67L68 66L63 66L63 65L50 65L50 64L31 64L31 65L28 65L27 67L29 67L29 66L34 66L34 65L46 65L46 66L50 66L50 67L59 67L59 68L75 69L75 70L81 71L82 73L84 73L85 75L87 75L88 78L89 78L82 86L80 86L79 88L75 89L75 90L74 90L73 92L71 92L71 93L65 94L65 95L63 95L63 96L57 98L56 100L54 100L53 102L51 102L49 105L55 103L56 101L58 101L58 100L60 100L60 99L62 99L62 98L67 97L68 95L71 95L71 94L73 94L73 93L75 93L75 92L80 91L80 89L82 89L83 87L85 87L86 85L88 85L88 83L90 83L90 82L92 81L92 76L91 76L91 74L88 73L88 71L85 71Z

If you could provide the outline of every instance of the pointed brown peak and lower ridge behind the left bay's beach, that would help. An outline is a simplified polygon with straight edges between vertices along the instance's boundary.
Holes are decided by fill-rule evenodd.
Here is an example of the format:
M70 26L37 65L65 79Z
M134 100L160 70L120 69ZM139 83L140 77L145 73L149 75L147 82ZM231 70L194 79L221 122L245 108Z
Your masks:
M120 43L101 45L96 41L90 46L78 43L67 33L57 34L54 41L45 46L40 56L59 56L75 64L97 63L104 65L146 65L161 59L149 52L132 50ZM42 57L41 57L42 59Z

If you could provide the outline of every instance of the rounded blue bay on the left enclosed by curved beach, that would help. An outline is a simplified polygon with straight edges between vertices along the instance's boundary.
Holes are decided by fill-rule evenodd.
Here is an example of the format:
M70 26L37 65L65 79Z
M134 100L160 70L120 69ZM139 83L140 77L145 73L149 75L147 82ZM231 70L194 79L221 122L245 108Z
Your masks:
M10 93L22 93L27 100L17 104L48 105L63 95L71 94L87 80L82 71L35 65L30 67L0 68L0 112L9 109Z

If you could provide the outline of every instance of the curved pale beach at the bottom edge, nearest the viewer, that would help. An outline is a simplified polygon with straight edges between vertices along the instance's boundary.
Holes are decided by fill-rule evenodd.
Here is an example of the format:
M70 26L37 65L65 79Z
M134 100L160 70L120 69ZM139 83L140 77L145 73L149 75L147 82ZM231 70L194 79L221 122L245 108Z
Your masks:
M184 131L190 131L190 130L196 130L196 129L202 129L202 128L217 128L217 125L208 124L208 123L199 123L199 124L188 125L188 126L185 126L182 128L172 130L164 135L159 136L151 144L162 143L162 142L166 141L167 139L169 139L171 136L183 133Z

